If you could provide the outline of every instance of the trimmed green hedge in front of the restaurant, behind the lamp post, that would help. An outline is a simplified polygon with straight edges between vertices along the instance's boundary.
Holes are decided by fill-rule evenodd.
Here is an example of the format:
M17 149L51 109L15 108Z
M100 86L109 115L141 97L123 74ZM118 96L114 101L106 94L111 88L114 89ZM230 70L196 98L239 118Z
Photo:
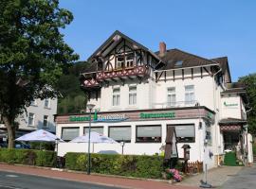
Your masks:
M91 172L94 173L137 178L161 179L164 170L161 156L91 154L91 164ZM87 155L76 152L66 153L65 167L86 171Z

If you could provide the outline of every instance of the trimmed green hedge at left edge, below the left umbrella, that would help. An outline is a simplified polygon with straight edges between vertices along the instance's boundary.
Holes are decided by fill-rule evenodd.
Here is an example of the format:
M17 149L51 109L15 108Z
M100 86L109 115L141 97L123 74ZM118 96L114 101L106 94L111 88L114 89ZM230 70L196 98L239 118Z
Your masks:
M52 167L56 165L56 152L0 148L0 162Z

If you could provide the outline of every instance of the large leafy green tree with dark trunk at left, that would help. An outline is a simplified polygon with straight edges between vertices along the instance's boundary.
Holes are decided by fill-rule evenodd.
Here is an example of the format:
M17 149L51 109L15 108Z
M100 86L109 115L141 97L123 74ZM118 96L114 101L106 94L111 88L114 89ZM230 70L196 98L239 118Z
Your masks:
M0 114L13 147L15 118L34 98L56 97L56 83L78 55L60 29L73 20L58 0L1 0Z

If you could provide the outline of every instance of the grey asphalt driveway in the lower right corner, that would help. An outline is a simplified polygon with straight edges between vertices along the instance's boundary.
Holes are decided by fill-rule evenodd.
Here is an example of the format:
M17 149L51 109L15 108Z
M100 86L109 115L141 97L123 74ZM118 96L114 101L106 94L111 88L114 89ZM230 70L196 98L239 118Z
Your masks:
M231 175L220 188L251 189L256 186L256 167L243 167L236 175Z

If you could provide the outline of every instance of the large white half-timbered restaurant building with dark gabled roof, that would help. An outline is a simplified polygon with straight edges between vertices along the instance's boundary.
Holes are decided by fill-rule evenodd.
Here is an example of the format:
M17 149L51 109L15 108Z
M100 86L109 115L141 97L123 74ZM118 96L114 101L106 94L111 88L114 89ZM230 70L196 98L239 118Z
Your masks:
M88 59L82 88L95 104L92 130L118 142L125 154L160 153L167 143L190 161L220 164L224 150L241 146L247 157L247 94L231 84L228 58L205 59L179 49L152 52L116 31ZM56 133L65 141L88 130L88 113L58 115ZM173 131L168 131L168 130ZM246 149L246 150L243 150ZM59 153L86 150L86 144L60 144ZM95 152L121 153L120 145L94 145Z

